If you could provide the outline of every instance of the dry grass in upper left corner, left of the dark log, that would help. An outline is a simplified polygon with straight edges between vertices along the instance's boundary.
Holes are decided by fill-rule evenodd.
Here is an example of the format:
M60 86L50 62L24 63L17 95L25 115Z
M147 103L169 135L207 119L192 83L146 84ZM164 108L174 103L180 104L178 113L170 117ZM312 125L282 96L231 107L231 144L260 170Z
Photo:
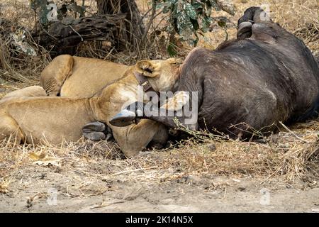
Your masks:
M13 87L38 84L38 75L51 59L48 52L38 46L30 35L35 24L30 19L34 18L33 11L26 5L26 1L4 0L1 1L0 18L0 89L10 92ZM6 18L10 21L6 21ZM37 56L13 48L11 34L18 31L26 31L26 43L37 51Z

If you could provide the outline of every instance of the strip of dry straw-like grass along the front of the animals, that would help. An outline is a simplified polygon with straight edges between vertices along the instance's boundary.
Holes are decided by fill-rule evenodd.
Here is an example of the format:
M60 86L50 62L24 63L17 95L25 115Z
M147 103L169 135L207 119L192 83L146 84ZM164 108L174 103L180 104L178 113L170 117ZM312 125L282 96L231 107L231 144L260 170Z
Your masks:
M121 179L142 182L166 182L186 175L226 175L262 177L264 181L282 176L291 182L305 175L319 177L319 123L297 124L293 132L280 132L267 138L267 143L225 140L216 136L193 138L167 150L147 151L123 159L114 142L94 143L80 140L52 145L0 145L0 189L5 192L17 175L35 166L30 154L57 157L54 171L80 172L91 179ZM296 135L302 138L296 139ZM304 142L306 140L306 143ZM262 183L262 182L261 182Z

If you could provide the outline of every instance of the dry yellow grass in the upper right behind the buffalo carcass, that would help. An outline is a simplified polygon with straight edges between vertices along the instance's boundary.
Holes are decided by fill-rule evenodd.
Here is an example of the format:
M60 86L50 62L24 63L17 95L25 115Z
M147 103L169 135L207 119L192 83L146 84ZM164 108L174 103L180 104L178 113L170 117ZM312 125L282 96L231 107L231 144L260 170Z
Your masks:
M278 22L291 33L297 35L308 45L310 50L319 50L319 3L317 0L234 0L237 13L229 16L223 11L215 13L213 16L227 16L231 22L237 24L237 20L242 16L242 12L250 6L269 6L270 17ZM236 27L228 23L229 38L235 38ZM206 48L217 48L218 44L225 40L225 32L213 26L211 33L206 33L201 38L199 45Z

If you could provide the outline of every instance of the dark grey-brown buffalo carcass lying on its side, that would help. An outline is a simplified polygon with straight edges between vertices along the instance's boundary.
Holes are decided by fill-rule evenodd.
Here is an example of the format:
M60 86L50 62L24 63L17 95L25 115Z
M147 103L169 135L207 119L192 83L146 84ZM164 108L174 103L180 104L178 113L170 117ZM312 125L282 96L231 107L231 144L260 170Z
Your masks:
M259 7L251 7L238 21L237 40L216 50L196 48L179 71L177 91L198 94L198 119L191 129L208 129L236 137L250 137L252 128L274 131L279 122L303 121L317 116L319 66L306 45L274 23ZM194 108L194 101L189 105ZM135 103L111 123L121 126L134 118L150 118L176 127L174 116L159 109L150 114L145 104ZM141 111L143 116L137 116ZM151 111L155 113L153 106ZM148 111L148 113L147 113ZM166 113L166 114L164 114ZM185 113L185 112L183 112ZM135 117L136 116L136 117Z

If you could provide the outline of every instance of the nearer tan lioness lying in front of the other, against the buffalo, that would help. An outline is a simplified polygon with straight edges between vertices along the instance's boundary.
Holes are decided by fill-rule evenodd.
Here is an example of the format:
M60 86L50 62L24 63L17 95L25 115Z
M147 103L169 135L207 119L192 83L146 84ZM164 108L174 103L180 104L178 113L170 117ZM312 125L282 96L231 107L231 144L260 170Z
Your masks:
M155 92L172 90L177 82L179 63L175 59L140 61L124 77L92 97L12 97L0 101L0 140L13 135L16 143L59 144L77 141L82 127L94 121L108 121L125 103L137 100L138 79L134 72L147 77ZM135 155L150 143L166 143L167 129L151 120L124 128L110 126L126 156ZM86 133L99 137L99 127L87 125Z

